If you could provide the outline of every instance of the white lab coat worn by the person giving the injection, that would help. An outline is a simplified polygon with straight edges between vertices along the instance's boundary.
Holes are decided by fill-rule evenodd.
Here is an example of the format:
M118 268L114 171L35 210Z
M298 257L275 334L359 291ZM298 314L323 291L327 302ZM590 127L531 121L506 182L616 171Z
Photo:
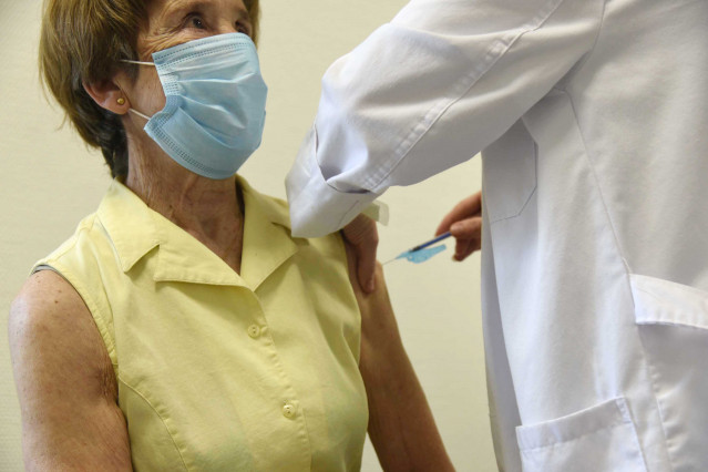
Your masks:
M708 1L413 0L328 70L294 232L480 150L500 468L708 470Z

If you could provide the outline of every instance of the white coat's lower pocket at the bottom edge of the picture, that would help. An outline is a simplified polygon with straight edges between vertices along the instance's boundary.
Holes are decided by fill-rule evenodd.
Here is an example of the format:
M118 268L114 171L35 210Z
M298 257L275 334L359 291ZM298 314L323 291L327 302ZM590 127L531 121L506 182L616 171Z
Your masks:
M646 464L624 398L516 428L525 472L640 472Z

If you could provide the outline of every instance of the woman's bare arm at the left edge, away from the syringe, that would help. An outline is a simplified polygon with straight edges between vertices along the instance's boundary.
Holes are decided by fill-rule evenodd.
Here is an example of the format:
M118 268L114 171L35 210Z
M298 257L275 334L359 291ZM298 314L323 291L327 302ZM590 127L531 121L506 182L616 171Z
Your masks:
M34 274L10 309L9 338L28 471L131 471L107 350L74 288Z

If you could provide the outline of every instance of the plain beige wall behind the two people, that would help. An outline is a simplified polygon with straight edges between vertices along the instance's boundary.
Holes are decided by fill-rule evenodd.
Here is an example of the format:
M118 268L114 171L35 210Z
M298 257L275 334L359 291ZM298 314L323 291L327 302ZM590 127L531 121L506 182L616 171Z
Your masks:
M284 196L283 181L315 115L327 65L390 19L403 0L263 0L260 58L269 85L264 144L243 174ZM32 263L98 205L106 168L42 96L35 68L39 0L0 0L0 470L22 469L20 418L7 347L7 312ZM383 198L388 259L430 237L458 199L479 188L480 162ZM450 245L449 245L450 246ZM479 257L445 253L423 265L386 267L404 343L458 470L495 470L489 432L479 311ZM367 444L365 471L380 470Z

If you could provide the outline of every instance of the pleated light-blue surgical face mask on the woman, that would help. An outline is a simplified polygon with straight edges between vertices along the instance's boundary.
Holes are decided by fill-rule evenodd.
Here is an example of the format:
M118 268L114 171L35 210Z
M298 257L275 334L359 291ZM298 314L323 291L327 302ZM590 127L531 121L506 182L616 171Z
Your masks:
M153 54L167 99L145 132L173 160L208 178L227 178L260 145L268 88L256 47L242 33L189 41Z

